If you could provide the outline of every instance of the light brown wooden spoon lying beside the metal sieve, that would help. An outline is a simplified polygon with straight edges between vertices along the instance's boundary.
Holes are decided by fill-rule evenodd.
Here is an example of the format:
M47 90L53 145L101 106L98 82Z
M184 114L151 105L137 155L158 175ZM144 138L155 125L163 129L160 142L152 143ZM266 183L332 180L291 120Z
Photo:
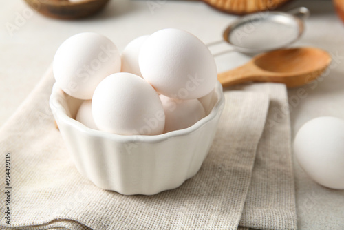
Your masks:
M247 81L269 81L297 87L316 79L330 62L330 54L318 48L273 50L255 56L234 70L218 74L217 79L224 87Z

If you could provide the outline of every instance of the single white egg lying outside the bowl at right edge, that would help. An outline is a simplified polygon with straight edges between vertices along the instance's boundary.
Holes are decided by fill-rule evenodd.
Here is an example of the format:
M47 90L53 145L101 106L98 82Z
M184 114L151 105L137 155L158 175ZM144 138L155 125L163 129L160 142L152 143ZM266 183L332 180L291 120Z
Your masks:
M330 116L305 123L294 140L294 154L320 185L344 189L344 121Z

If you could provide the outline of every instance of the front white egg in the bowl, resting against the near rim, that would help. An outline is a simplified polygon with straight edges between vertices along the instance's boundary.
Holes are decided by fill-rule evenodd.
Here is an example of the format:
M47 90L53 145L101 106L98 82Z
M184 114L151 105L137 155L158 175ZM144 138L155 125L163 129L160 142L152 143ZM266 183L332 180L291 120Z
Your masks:
M98 129L122 135L164 131L164 109L153 87L135 74L116 73L99 83L92 98Z

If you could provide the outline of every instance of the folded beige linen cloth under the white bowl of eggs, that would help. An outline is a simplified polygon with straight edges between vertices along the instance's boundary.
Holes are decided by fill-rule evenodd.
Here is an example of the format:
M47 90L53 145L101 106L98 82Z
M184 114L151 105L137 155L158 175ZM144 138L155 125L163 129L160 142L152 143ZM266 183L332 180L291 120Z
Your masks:
M99 189L74 167L50 112L53 83L48 70L0 129L1 188L10 187L10 196L0 195L1 213L10 208L1 229L296 229L284 85L227 90L200 171L177 189L124 196Z

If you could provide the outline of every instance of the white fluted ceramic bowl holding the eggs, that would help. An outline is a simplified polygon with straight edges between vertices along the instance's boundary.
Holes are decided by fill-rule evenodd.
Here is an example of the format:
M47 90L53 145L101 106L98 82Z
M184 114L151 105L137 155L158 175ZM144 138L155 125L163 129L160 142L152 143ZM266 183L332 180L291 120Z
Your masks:
M224 107L222 85L200 98L207 116L186 129L155 136L121 136L74 120L81 100L55 84L50 107L80 174L120 194L157 194L174 189L200 169Z

